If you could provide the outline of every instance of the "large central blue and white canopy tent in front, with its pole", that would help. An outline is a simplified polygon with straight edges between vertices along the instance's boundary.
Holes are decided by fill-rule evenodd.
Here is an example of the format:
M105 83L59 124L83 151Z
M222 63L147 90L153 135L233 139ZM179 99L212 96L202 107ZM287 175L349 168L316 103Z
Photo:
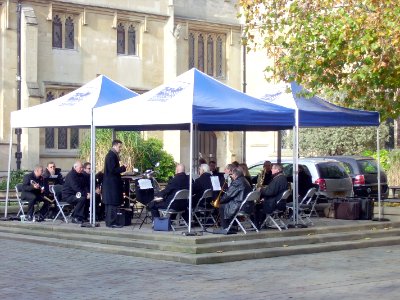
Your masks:
M191 69L134 99L95 108L93 116L95 127L189 130L190 180L194 126L204 131L260 131L290 129L295 125L293 109L260 101L197 69ZM189 201L189 219L191 205Z

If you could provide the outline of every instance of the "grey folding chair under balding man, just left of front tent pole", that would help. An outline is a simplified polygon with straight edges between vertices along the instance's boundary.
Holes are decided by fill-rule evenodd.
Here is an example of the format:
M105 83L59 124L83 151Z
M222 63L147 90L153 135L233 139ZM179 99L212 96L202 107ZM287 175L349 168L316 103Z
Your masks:
M169 216L170 218L175 215L175 219L171 219L171 227L172 230L175 231L175 228L187 228L188 224L185 219L182 217L182 214L185 212L185 208L189 203L189 190L179 190L175 193L174 198L168 204L167 208L159 208L158 211L162 217ZM172 205L179 205L182 209L173 209Z

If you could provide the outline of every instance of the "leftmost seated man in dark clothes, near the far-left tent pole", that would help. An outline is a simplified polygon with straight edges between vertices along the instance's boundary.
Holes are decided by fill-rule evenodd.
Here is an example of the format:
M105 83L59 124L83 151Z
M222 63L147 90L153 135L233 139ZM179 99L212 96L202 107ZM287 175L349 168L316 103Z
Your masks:
M21 199L28 201L27 221L33 221L34 207L37 202L43 202L39 210L38 221L44 221L44 216L48 211L49 202L44 199L43 167L36 165L33 171L24 176L22 182Z

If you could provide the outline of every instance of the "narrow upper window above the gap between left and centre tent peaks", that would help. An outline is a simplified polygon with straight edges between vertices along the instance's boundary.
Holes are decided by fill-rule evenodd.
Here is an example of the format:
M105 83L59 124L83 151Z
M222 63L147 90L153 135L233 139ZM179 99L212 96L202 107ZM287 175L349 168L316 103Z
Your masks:
M117 54L138 55L137 24L120 22L117 26Z

